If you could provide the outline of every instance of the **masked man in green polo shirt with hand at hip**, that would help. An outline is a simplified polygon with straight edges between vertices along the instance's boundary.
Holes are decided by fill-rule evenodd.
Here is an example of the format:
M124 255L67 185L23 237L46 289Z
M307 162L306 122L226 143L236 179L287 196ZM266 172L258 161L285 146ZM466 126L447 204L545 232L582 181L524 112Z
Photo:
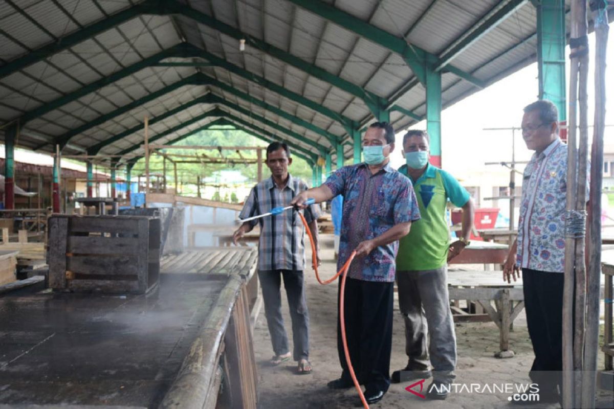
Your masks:
M468 244L473 201L452 175L429 164L429 135L425 131L405 134L403 155L406 164L398 171L413 182L422 218L412 224L410 234L400 240L398 248L398 304L405 319L405 352L409 359L404 369L392 373L392 382L433 376L427 396L446 399L456 367L456 335L446 266ZM451 245L446 222L448 199L463 209L461 238Z

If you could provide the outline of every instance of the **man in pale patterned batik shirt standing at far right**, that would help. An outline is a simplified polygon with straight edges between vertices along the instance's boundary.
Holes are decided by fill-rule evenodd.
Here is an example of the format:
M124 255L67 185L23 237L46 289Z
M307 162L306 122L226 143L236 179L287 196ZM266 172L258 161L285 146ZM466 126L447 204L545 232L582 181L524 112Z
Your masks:
M503 266L503 280L516 281L523 270L524 307L535 353L529 376L539 384L539 402L557 402L562 371L567 145L559 139L558 110L550 101L527 105L522 129L527 148L535 153L524 169L518 238ZM548 376L547 371L558 373Z

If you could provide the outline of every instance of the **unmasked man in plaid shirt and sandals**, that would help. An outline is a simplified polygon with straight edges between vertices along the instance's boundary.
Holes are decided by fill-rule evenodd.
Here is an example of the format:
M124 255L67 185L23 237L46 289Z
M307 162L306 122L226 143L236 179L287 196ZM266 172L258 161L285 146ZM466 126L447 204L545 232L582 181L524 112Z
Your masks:
M308 189L305 182L292 177L288 166L292 164L288 145L273 142L266 148L266 166L271 169L271 177L252 188L239 218L262 215L275 207L290 205L292 198ZM319 264L317 244L317 217L319 205L305 209L305 219L313 235ZM243 223L233 235L235 245L244 234L260 223L260 243L258 245L258 278L262 286L265 302L266 323L271 334L274 356L271 364L293 359L298 362L298 373L311 373L309 363L309 313L305 301L303 270L305 269L305 229L295 210L286 210L279 215L271 215ZM288 335L284 329L281 315L281 278L290 307L292 319L293 354L290 355Z

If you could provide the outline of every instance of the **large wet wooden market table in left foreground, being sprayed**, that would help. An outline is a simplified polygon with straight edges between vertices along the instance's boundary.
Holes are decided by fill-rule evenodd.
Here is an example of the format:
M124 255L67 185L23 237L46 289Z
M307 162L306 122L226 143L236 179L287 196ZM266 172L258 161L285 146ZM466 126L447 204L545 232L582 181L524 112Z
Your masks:
M2 294L0 405L255 409L256 250L231 250L163 258L147 294Z

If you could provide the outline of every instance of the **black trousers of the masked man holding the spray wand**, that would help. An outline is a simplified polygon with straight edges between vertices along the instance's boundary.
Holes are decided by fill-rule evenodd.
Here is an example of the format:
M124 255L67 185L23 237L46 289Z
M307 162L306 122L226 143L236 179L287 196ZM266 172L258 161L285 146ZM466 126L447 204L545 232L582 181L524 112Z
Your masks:
M339 295L341 280L339 280ZM349 356L360 384L371 391L386 392L390 386L392 349L392 304L394 283L346 280L345 327ZM339 299L337 305L339 305ZM337 317L337 350L343 372L351 381L341 339L341 321Z

